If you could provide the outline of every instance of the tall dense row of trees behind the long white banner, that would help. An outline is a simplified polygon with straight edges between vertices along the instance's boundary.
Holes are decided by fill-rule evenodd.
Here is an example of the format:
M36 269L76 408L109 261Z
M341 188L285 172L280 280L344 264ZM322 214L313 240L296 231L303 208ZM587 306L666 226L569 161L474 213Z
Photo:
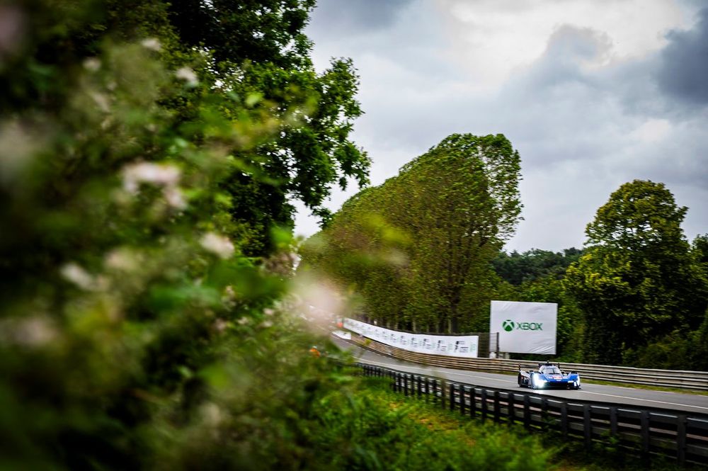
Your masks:
M350 198L302 249L392 329L489 326L490 261L520 220L520 158L503 135L451 135Z

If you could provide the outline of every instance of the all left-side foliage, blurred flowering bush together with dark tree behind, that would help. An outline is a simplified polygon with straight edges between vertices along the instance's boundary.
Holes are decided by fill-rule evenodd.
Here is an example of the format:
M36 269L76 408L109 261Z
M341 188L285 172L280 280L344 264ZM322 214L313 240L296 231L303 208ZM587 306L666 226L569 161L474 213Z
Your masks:
M365 182L357 78L314 72L311 1L192 6L236 23L197 43L187 2L0 4L2 469L316 456L302 423L346 377L287 295L288 198Z

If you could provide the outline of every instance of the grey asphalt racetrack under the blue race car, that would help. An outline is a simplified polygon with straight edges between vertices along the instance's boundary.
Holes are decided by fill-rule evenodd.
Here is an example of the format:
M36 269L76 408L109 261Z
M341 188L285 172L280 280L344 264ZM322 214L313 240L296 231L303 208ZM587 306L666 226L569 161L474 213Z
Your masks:
M384 356L336 337L332 337L332 341L343 350L350 351L361 363L392 368L394 370L405 371L406 373L434 376L436 378L476 386L496 387L499 389L520 390L525 392L530 391L526 387L518 386L515 375L499 375L495 373L481 373L478 371L454 370L450 368L420 365L418 363L410 363ZM581 390L578 391L535 390L534 393L542 396L561 397L566 400L578 399L581 401L604 402L618 406L668 409L674 414L678 411L682 411L691 415L704 414L708 416L708 396L706 395L642 390L632 387L594 385L588 382L583 382Z

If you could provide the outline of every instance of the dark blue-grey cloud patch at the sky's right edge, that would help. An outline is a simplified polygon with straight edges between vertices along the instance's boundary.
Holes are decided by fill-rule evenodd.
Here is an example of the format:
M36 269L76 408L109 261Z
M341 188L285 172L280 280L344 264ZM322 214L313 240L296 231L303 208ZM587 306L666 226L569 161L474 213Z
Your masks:
M656 71L659 89L690 105L708 104L708 8L690 30L672 30Z

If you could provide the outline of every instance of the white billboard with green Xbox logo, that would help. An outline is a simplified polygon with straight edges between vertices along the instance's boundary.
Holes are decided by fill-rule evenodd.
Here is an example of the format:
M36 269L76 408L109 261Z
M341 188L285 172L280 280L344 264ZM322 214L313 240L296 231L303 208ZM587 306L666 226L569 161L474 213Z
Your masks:
M499 351L556 354L555 302L492 301L489 331L499 333Z

